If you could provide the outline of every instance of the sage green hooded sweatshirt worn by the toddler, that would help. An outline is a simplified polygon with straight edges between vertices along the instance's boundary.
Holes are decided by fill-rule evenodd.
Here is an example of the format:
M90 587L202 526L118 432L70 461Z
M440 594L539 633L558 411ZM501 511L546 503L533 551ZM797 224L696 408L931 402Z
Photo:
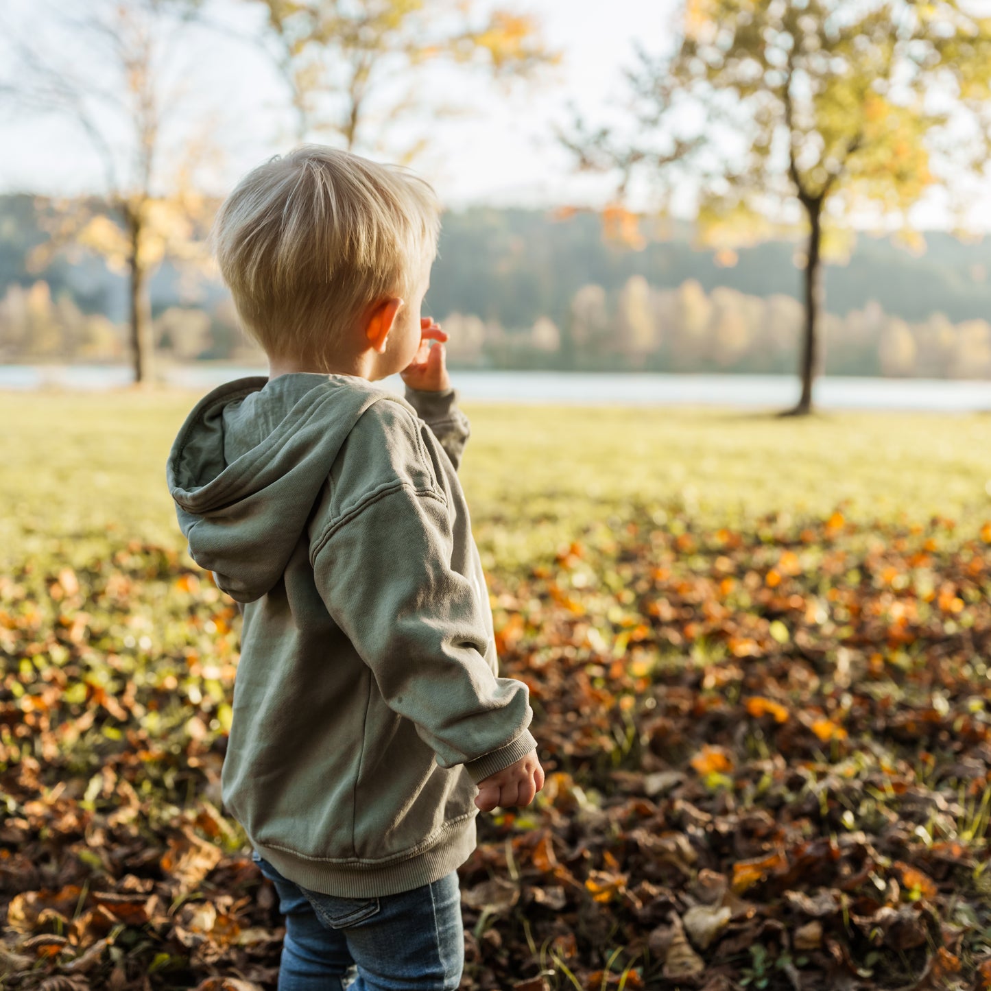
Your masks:
M341 897L462 864L476 783L535 748L526 686L497 677L468 421L453 391L406 397L241 379L168 458L190 555L243 604L224 805L285 877Z

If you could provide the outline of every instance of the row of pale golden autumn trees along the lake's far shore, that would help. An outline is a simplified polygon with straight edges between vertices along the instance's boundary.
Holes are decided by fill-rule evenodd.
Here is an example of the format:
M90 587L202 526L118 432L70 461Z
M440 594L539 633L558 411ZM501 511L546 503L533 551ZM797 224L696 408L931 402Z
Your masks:
M435 311L436 312L436 311ZM766 299L689 279L677 289L633 275L613 304L601 285L582 286L559 326L540 317L505 328L475 314L448 313L454 368L788 374L803 309L790 296ZM909 323L876 302L824 322L826 373L991 379L991 324L953 324L941 314ZM174 362L255 362L261 353L237 328L230 300L210 309L170 306L155 318L159 353ZM0 362L121 362L126 328L86 314L49 285L12 285L0 299Z

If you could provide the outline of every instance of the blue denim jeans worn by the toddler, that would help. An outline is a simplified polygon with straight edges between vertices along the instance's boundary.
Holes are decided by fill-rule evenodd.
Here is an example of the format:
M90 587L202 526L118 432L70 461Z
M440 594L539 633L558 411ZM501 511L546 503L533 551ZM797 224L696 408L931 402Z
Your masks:
M456 991L465 963L458 873L382 898L302 888L253 854L275 884L285 939L278 991Z

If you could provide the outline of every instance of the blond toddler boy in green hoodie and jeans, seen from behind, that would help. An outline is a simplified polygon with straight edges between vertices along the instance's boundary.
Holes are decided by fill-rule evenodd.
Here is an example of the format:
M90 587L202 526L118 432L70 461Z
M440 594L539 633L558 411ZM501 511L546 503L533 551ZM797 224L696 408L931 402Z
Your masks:
M543 787L526 686L496 675L447 335L420 317L438 228L426 183L321 146L249 173L214 228L270 376L201 399L167 479L243 604L222 793L286 916L280 991L354 965L359 991L457 988L475 817ZM396 372L405 399L374 385Z

